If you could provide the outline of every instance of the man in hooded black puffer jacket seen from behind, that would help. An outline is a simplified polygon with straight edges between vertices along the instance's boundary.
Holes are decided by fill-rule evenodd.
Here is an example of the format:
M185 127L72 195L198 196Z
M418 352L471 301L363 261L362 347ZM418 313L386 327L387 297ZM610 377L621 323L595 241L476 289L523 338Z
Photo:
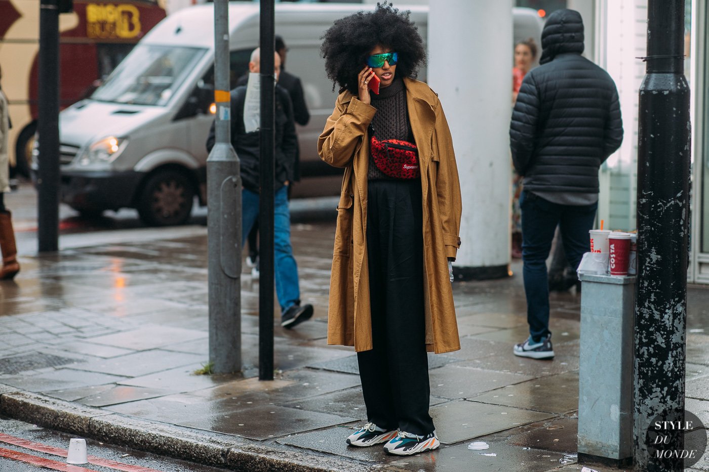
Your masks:
M523 276L530 337L514 354L554 357L546 260L559 225L574 269L587 252L598 206L598 168L623 141L618 91L608 72L581 57L584 23L574 10L552 13L542 31L540 67L520 88L510 124L515 169L524 176Z

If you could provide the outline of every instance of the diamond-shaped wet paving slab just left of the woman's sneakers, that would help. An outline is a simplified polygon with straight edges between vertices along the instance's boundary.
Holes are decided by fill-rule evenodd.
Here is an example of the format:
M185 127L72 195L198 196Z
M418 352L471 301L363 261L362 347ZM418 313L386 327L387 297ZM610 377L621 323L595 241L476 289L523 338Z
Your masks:
M238 410L228 414L199 417L189 421L177 420L177 424L262 441L272 437L340 425L354 420L356 418L284 408L277 405L259 405L249 410Z

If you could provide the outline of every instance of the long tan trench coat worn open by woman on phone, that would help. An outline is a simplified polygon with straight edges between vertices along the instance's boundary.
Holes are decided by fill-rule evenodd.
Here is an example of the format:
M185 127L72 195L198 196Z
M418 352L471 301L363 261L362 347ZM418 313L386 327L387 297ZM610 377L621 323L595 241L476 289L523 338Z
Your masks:
M440 101L430 87L404 79L411 130L420 160L423 195L426 350L460 349L447 257L460 247L462 203L453 143ZM328 344L372 349L367 264L367 126L376 108L345 91L318 138L320 158L345 167L337 206L337 230L330 279Z

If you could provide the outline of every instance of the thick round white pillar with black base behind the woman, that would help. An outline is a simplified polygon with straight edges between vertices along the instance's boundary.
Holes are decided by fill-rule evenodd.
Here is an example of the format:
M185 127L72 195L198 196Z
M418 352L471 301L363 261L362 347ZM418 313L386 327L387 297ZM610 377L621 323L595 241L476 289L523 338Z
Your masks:
M428 83L453 135L463 198L456 279L508 275L512 0L430 0Z

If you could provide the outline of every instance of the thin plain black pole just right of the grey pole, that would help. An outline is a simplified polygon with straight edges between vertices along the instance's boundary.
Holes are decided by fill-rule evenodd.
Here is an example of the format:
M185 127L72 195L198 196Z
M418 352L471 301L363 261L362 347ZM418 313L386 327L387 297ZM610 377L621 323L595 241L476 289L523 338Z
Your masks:
M273 380L274 1L261 1L261 195L259 198L259 380Z

